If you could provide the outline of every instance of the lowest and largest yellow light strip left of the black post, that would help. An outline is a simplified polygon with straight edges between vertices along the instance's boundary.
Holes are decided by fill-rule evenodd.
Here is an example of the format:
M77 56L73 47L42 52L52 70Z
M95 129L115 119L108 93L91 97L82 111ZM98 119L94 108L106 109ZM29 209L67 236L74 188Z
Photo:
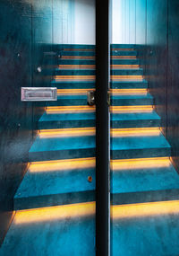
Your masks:
M94 216L95 211L95 202L19 210L14 216L13 223L15 225L24 225L57 221L70 217L76 218L81 216Z

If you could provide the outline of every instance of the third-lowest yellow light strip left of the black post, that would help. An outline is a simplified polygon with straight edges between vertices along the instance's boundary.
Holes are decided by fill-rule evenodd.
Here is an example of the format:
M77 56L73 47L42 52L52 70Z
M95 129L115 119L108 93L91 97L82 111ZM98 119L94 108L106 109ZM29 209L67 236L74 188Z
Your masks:
M82 137L94 136L96 128L56 128L56 129L41 129L39 137Z

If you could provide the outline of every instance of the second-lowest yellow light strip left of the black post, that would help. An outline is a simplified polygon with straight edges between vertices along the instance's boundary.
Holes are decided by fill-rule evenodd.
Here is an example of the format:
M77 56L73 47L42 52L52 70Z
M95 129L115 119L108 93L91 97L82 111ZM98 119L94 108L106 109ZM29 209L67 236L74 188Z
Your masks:
M55 172L69 170L83 170L87 168L95 168L96 158L75 158L55 161L32 162L30 163L29 172Z

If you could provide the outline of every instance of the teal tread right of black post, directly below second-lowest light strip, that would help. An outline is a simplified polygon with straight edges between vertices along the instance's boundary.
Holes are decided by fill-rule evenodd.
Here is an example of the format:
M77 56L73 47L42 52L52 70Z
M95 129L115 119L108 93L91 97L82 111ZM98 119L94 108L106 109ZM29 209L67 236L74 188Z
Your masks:
M167 167L127 169L113 172L112 193L179 189L179 176L171 164ZM159 193L159 191L158 191Z

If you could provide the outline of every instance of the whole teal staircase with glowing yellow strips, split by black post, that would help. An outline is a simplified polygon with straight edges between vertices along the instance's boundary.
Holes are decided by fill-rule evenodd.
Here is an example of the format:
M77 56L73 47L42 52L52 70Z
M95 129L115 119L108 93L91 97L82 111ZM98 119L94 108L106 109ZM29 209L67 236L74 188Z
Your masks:
M179 176L138 46L111 50L111 255L179 255ZM94 46L64 45L0 255L95 255Z

